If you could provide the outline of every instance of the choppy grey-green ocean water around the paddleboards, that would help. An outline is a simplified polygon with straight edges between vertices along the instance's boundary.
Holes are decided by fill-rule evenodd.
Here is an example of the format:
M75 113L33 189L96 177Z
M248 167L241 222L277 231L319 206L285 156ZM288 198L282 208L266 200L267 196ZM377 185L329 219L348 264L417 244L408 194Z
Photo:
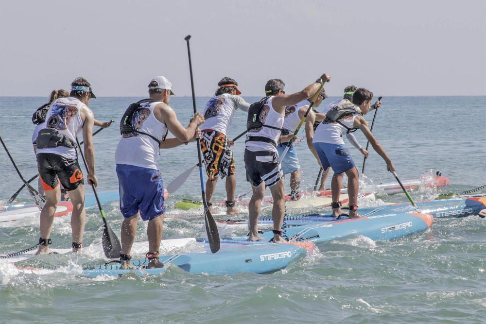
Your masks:
M259 99L244 98L248 102ZM207 99L197 98L200 111ZM451 179L451 186L437 191L460 193L486 184L485 99L384 97L373 133L390 155L401 179L439 170ZM31 116L46 100L0 98L0 136L26 179L36 173ZM112 127L94 137L99 190L118 188L114 163L120 138L117 124L128 104L137 100L118 97L90 102L97 119L115 120ZM192 115L191 98L174 97L171 105L182 124L187 124ZM374 111L366 116L370 123L373 115ZM238 112L229 137L243 132L245 121L244 113ZM364 136L360 132L355 134L365 146ZM363 157L349 147L361 171ZM233 150L238 194L249 190L244 177L243 149L242 138L235 142ZM302 167L302 189L311 189L318 173L317 163L305 139L296 150ZM159 156L165 184L195 163L194 143L162 150ZM364 173L366 181L373 183L394 181L371 148ZM169 209L181 198L200 197L198 175L194 171L169 197ZM289 191L288 179L286 182ZM3 151L0 183L0 203L22 185ZM424 189L412 192L412 196L420 201L436 193ZM403 194L378 193L377 196L382 201L407 201ZM214 201L225 197L220 180ZM24 190L17 201L30 202L28 192ZM119 235L122 216L117 202L104 205L104 209L111 228ZM170 268L160 276L87 279L79 275L80 265L101 262L101 254L93 252L100 250L101 226L98 209L88 208L84 239L88 248L84 253L39 256L33 261L63 264L64 271L18 273L11 263L0 259L0 323L486 322L486 231L485 220L479 217L435 220L426 233L393 242L375 242L356 236L321 243L317 253L270 274L193 275ZM38 232L37 219L24 220L16 226L0 226L0 255L35 245ZM203 236L202 219L166 220L164 225L163 239ZM56 218L52 240L54 248L69 247L68 217ZM136 240L147 240L142 222ZM194 246L176 251L188 249Z

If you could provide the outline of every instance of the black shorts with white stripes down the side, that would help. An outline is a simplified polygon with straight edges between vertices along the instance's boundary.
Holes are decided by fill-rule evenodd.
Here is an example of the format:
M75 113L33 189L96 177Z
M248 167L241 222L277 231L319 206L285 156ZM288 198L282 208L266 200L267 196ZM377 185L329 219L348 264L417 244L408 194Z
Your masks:
M246 180L253 187L265 182L267 187L272 187L282 179L282 167L278 162L278 153L273 151L249 151L244 150L244 167Z

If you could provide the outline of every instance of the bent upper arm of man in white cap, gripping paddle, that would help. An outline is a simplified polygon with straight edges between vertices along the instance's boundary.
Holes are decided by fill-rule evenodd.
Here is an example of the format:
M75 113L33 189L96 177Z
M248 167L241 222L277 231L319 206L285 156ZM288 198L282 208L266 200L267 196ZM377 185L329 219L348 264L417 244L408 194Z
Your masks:
M189 125L184 128L184 126L182 126L180 121L177 119L174 109L165 103L159 103L156 105L154 115L156 119L164 123L169 131L181 142L189 141L194 136L197 127L204 123L203 115L196 113L196 115L190 120Z

